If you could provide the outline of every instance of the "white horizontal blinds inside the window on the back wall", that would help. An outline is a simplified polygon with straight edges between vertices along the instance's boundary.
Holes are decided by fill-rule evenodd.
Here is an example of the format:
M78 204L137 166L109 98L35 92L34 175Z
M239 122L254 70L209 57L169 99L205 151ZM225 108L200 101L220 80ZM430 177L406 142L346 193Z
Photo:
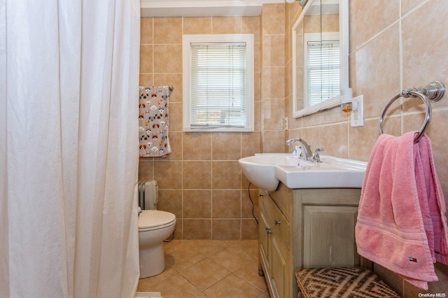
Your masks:
M246 43L191 43L190 127L246 127Z

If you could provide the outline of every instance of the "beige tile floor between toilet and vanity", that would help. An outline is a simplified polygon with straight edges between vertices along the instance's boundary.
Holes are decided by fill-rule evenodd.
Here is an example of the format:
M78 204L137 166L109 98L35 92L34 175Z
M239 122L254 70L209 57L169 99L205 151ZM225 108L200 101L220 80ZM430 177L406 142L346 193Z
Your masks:
M269 292L258 276L258 241L173 240L164 243L167 269L139 281L139 292L163 298L263 297Z

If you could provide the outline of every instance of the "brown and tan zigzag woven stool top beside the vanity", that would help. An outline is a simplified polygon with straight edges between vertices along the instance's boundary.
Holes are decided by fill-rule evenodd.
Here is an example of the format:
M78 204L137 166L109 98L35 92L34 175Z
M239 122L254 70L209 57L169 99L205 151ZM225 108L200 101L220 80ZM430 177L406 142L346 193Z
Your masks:
M400 298L376 274L360 267L299 269L295 278L299 298Z

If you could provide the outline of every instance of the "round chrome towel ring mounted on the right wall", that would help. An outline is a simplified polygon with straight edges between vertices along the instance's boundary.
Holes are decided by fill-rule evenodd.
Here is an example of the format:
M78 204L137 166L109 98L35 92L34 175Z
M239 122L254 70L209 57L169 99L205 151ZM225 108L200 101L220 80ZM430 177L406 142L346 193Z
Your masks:
M384 115L386 115L386 111L389 108L389 106L391 106L393 101L399 99L400 97L406 97L406 98L419 97L423 101L423 104L425 104L426 115L425 115L425 121L423 122L423 126L419 131L419 135L416 136L416 138L414 139L414 143L417 143L418 141L420 141L423 134L425 134L426 127L428 127L428 124L431 120L432 109L430 102L439 101L440 99L442 99L444 93L445 93L445 86L443 83L438 81L429 83L426 86L402 90L400 94L398 94L397 96L393 97L393 99L388 101L386 106L384 106L383 111L381 111L381 115L379 116L379 134L383 134Z

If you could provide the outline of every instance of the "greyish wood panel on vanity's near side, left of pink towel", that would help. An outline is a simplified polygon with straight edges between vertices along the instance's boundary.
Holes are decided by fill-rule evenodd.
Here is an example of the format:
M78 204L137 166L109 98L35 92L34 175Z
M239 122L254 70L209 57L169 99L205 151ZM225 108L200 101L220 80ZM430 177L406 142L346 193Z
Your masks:
M303 205L303 267L358 265L357 215L358 206Z

